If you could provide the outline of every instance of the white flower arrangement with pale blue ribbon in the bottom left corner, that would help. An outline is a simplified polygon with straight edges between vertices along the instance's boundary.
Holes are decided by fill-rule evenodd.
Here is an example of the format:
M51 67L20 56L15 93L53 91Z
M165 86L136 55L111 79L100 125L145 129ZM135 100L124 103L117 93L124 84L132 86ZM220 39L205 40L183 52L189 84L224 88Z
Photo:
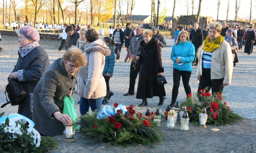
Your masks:
M55 138L41 137L34 123L19 114L0 113L0 153L44 153L57 148Z

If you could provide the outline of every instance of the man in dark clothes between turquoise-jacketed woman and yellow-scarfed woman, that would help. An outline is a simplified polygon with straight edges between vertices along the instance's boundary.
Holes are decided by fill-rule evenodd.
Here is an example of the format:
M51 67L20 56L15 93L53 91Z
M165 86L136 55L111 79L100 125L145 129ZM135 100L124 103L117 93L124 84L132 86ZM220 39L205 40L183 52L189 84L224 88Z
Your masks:
M194 29L191 30L189 39L191 43L195 46L195 59L192 62L192 65L197 65L198 59L197 59L197 52L199 47L202 47L202 42L203 42L203 35L202 35L202 30L198 28L198 23L194 23Z

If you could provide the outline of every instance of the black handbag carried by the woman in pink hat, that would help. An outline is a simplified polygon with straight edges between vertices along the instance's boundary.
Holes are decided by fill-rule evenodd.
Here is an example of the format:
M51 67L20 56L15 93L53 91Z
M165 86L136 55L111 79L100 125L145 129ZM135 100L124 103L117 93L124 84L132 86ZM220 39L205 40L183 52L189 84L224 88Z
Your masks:
M10 101L8 101L6 93ZM3 104L1 108L4 108L8 104L11 104L12 106L20 105L22 100L26 98L27 93L24 91L24 88L18 79L10 79L5 88L5 96L7 103Z

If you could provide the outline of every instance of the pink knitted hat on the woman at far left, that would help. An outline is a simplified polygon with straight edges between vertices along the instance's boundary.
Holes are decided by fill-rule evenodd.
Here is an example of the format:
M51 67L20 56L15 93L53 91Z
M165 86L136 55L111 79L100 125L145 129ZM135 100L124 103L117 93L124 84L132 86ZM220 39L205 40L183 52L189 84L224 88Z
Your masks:
M32 40L32 41L39 41L40 40L39 33L34 28L32 28L31 26L22 26L19 29L19 33L24 35L29 40Z

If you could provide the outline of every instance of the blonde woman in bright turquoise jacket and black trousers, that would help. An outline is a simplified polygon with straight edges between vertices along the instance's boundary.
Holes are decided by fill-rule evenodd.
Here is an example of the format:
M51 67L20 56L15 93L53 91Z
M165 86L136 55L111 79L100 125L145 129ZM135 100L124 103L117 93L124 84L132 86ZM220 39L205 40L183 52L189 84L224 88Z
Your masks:
M178 96L180 86L180 76L182 77L183 86L186 95L191 93L189 79L192 69L192 62L195 58L195 46L190 43L188 32L180 31L177 42L173 45L171 51L171 60L173 63L173 91L171 105L174 105Z

